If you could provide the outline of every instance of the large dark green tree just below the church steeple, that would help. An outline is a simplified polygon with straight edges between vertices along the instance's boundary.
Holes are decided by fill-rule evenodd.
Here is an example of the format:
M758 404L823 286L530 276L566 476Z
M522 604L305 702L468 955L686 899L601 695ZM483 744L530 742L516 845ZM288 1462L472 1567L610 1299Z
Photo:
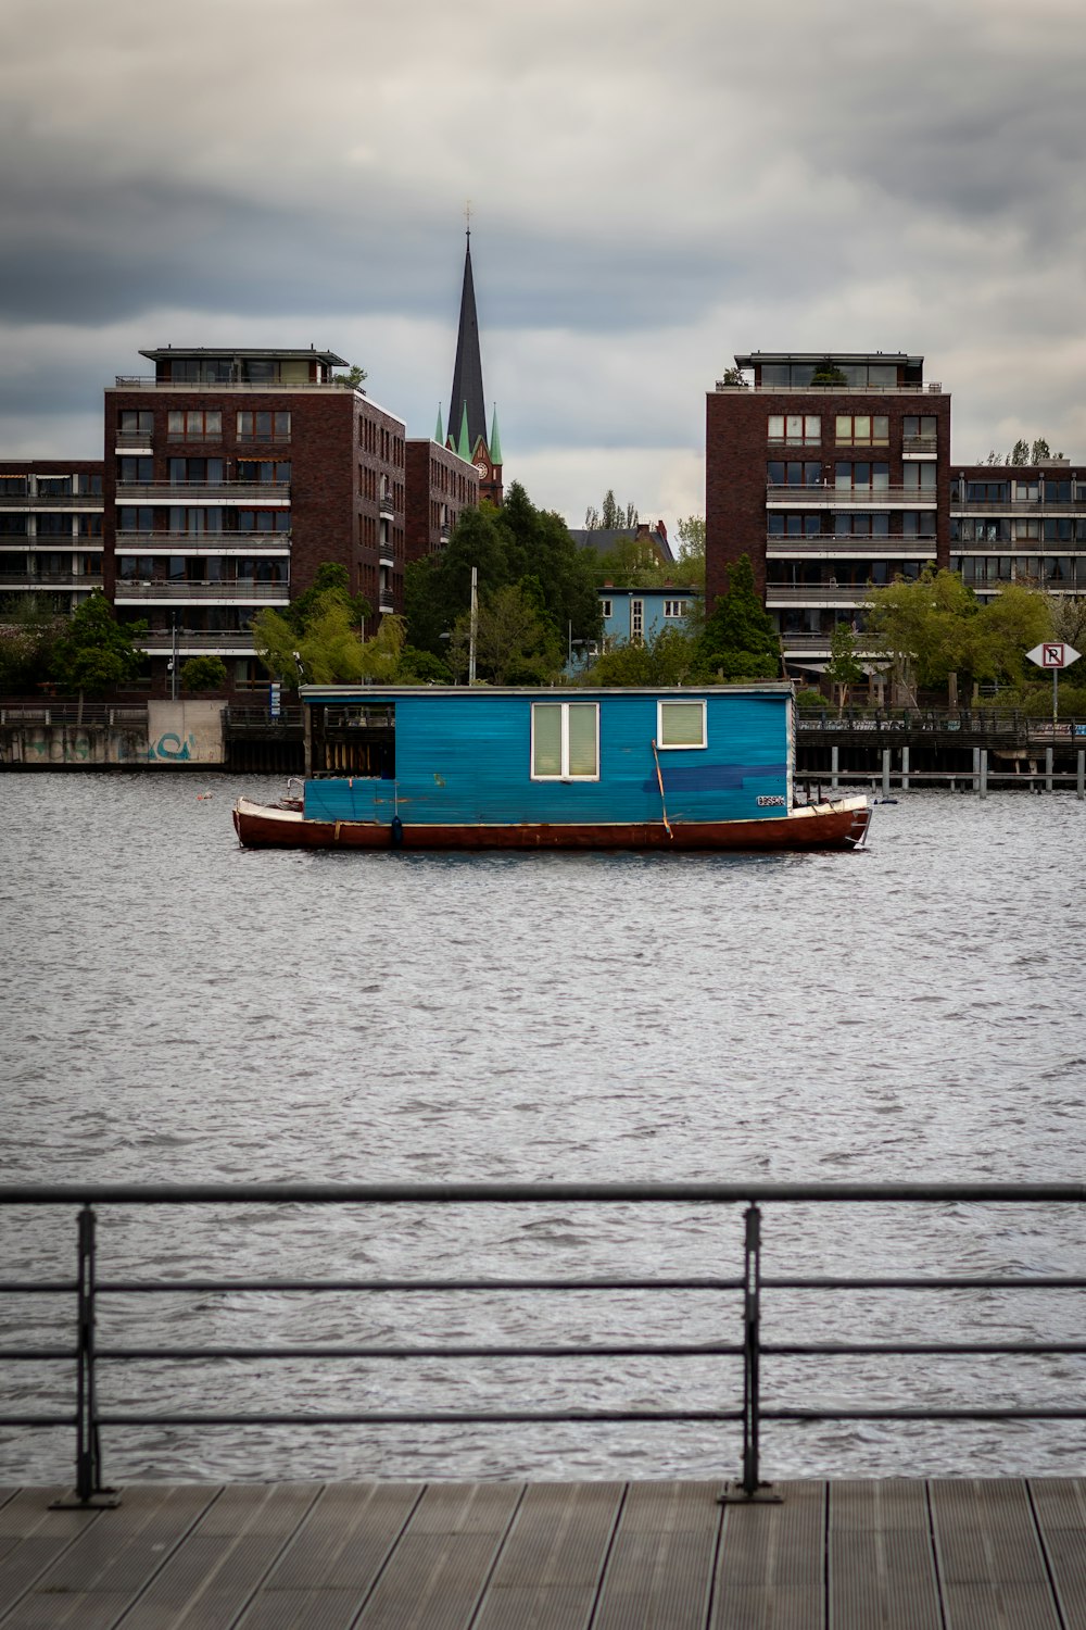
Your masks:
M480 615L500 590L519 585L562 650L570 634L599 636L591 551L578 549L562 517L537 510L515 481L501 509L480 504L464 510L441 554L407 567L404 603L410 641L418 650L446 660L451 641L443 636L453 634L471 608L472 566L479 572ZM511 601L506 611L510 606Z

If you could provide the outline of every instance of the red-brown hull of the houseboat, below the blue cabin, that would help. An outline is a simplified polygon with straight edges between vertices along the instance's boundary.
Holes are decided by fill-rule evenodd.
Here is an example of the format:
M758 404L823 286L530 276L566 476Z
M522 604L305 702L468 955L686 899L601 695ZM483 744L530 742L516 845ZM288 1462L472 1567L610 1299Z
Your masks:
M856 849L871 820L866 799L804 805L775 820L506 826L412 826L306 820L238 799L234 828L247 849Z

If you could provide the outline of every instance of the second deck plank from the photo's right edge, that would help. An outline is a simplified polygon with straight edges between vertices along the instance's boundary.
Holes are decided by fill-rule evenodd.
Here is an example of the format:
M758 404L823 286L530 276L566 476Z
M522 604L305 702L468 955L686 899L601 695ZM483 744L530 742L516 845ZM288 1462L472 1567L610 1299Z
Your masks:
M952 1630L1060 1630L1023 1478L931 1482L939 1584Z

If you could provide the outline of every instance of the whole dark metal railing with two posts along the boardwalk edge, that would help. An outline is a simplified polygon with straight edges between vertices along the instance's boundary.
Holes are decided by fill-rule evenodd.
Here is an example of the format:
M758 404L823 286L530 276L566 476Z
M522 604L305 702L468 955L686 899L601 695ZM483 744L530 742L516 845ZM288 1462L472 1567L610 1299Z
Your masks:
M63 1345L13 1343L0 1348L0 1361L11 1364L72 1363L73 1387L70 1403L52 1410L5 1410L0 1413L3 1428L68 1428L75 1434L75 1493L80 1503L90 1504L107 1493L103 1482L101 1434L106 1428L130 1426L316 1426L316 1425L515 1425L515 1423L571 1423L571 1421L642 1421L677 1423L702 1421L712 1425L736 1423L741 1426L741 1478L742 1493L751 1498L760 1487L760 1428L765 1421L1026 1421L1026 1420L1086 1420L1086 1399L1075 1395L1070 1403L1040 1402L1036 1405L983 1405L964 1403L907 1403L907 1405L834 1405L809 1402L803 1405L775 1403L764 1399L764 1359L790 1358L814 1359L812 1389L819 1386L819 1372L825 1361L853 1356L1016 1356L1044 1358L1086 1356L1086 1340L764 1340L762 1304L770 1291L801 1291L834 1297L856 1291L1083 1291L1086 1276L1076 1273L972 1273L949 1275L935 1271L909 1273L765 1273L762 1222L764 1206L966 1206L966 1205L1045 1205L1081 1206L1086 1201L1083 1183L365 1183L365 1185L316 1185L316 1183L204 1183L194 1187L155 1183L68 1183L55 1187L0 1188L0 1206L75 1206L75 1273L62 1280L5 1280L0 1296L55 1296L72 1302L73 1337ZM153 1270L145 1276L107 1276L101 1273L98 1253L98 1209L106 1206L415 1206L448 1214L461 1206L624 1206L656 1209L661 1205L705 1206L718 1214L742 1206L742 1245L736 1271L721 1275L594 1275L594 1276L498 1276L466 1275L462 1278L430 1278L423 1273L397 1278L156 1278ZM959 1211L956 1213L961 1214ZM689 1224L689 1219L685 1219ZM659 1218L655 1218L659 1224ZM866 1231L865 1231L866 1237ZM661 1229L655 1226L653 1239L659 1242ZM448 1245L448 1226L443 1216L443 1244ZM866 1250L866 1247L861 1247ZM915 1245L910 1245L910 1260ZM344 1293L358 1296L383 1296L388 1293L485 1293L515 1291L541 1293L685 1293L712 1291L736 1297L729 1314L731 1337L721 1332L705 1341L684 1340L682 1332L651 1341L456 1341L446 1345L435 1340L420 1341L363 1341L363 1343L230 1343L190 1346L117 1343L98 1340L98 1307L103 1297L150 1296L199 1296L228 1293L231 1296L267 1293ZM1081 1324L1081 1320L1079 1320ZM850 1322L852 1327L852 1322ZM674 1319L668 1324L674 1330ZM322 1359L391 1359L409 1363L415 1359L441 1359L461 1363L466 1359L578 1359L578 1358L713 1358L738 1359L741 1364L742 1392L738 1407L695 1408L682 1407L679 1382L669 1386L679 1394L672 1407L643 1408L358 1408L345 1407L334 1412L298 1410L208 1410L190 1412L134 1410L99 1405L99 1372L112 1364L161 1364L161 1363L259 1363L272 1361L319 1363ZM365 1387L363 1387L365 1390Z

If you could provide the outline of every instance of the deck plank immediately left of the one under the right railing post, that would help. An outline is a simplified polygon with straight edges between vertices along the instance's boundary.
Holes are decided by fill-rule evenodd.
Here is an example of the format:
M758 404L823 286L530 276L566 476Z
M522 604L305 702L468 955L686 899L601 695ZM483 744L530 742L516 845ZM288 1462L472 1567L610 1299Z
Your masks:
M720 1482L633 1483L593 1630L703 1630L725 1511Z

